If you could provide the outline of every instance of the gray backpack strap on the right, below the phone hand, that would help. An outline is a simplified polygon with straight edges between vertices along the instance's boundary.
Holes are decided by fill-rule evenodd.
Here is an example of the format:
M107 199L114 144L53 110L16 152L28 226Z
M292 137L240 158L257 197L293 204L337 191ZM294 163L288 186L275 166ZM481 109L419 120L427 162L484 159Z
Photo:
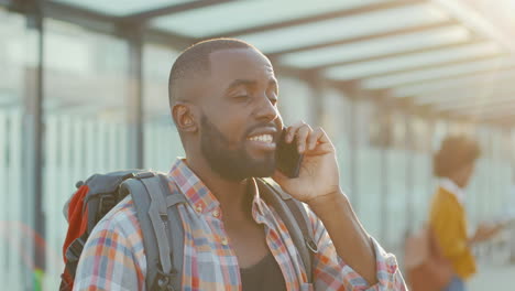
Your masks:
M283 219L306 269L308 283L313 283L313 254L318 251L313 238L313 227L304 205L282 191L278 185L256 179L260 195L270 203Z

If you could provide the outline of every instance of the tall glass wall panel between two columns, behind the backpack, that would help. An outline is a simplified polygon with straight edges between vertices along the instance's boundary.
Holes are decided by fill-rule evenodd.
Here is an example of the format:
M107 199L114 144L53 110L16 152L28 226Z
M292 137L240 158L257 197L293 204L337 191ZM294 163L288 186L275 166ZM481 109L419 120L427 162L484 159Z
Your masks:
M128 153L125 42L51 19L45 30L45 289L56 290L67 229L63 206L75 183L128 169L134 159Z

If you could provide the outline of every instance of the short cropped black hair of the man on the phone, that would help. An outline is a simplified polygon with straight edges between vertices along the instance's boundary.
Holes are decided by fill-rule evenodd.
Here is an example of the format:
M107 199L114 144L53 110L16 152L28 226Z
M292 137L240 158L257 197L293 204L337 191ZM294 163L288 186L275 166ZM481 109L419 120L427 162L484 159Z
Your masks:
M180 98L185 98L185 96L178 96L180 93L177 90L182 80L191 79L193 77L208 76L210 74L209 55L217 51L231 48L252 48L260 52L252 44L237 39L206 40L184 50L175 61L169 72L169 107L172 108Z

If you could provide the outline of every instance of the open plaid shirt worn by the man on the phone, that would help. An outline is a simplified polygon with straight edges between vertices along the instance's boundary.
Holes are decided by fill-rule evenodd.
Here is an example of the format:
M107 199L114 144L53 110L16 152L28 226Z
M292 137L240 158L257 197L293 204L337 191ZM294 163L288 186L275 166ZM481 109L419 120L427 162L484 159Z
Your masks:
M220 204L182 161L171 170L188 204L179 205L185 230L183 290L241 290L240 267L223 230ZM366 281L337 255L321 222L309 212L318 252L313 261L313 284L286 226L260 198L256 186L252 216L262 224L266 245L277 261L287 290L406 290L395 257L374 240L379 283ZM80 257L74 290L145 290L146 260L135 208L130 197L99 222Z

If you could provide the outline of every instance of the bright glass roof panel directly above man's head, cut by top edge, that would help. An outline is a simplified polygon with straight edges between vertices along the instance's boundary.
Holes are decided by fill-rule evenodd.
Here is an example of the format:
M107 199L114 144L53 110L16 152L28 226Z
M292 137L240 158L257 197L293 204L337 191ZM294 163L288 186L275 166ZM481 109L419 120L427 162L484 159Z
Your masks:
M391 0L328 0L304 2L282 1L233 1L160 17L152 20L155 28L191 37L223 34L228 31L244 30L269 23L280 23L292 19L346 10ZM252 11L250 13L250 11Z

